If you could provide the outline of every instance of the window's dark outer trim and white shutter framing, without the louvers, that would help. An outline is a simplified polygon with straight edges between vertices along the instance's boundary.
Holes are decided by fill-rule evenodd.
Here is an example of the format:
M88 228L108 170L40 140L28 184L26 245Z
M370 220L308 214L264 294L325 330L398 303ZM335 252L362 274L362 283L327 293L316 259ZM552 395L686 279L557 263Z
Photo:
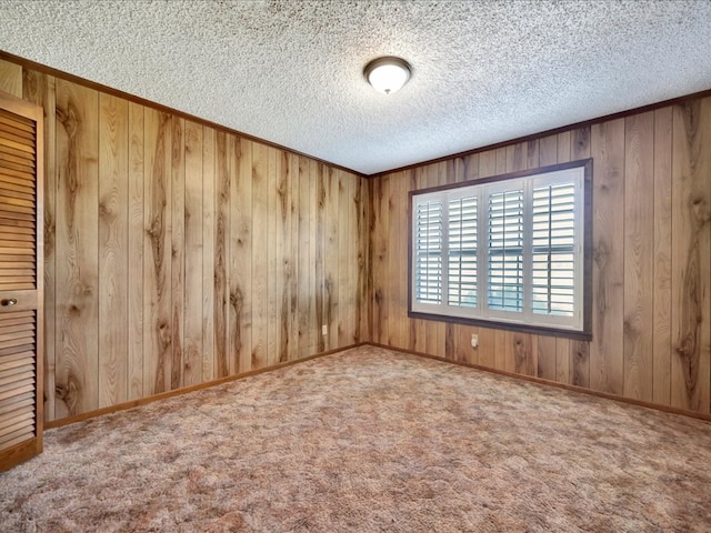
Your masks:
M452 194L455 198L467 198L467 189L471 187L487 185L488 188L498 188L498 183L501 184L501 188L505 188L505 181L510 180L525 180L528 183L527 187L533 189L533 181L537 177L542 177L544 174L560 172L571 169L581 169L582 171L582 199L577 199L575 205L575 228L577 235L580 235L582 239L581 243L577 243L575 247L582 245L581 258L582 264L580 269L577 269L574 272L577 274L575 278L575 294L580 294L582 296L582 304L580 306L580 312L582 313L581 320L575 318L572 320L562 320L560 322L563 323L553 323L553 320L557 319L543 319L540 320L539 323L531 323L524 320L512 320L511 314L507 314L507 312L497 312L494 310L487 310L485 315L472 316L471 310L467 310L465 308L449 305L448 302L448 293L449 288L442 285L441 288L441 298L442 301L440 304L421 304L417 303L413 305L413 299L415 293L415 284L414 284L414 269L417 265L414 264L414 250L413 250L413 233L414 233L414 207L415 200L418 197L422 195L432 195L432 194L441 194L444 191L448 191L449 194ZM457 191L461 189L461 191ZM449 199L451 201L451 198ZM488 197L484 198L483 194L480 194L478 200L478 230L477 230L477 241L478 241L478 250L477 250L477 261L479 264L483 261L488 261L489 247L488 243L484 244L489 237L489 222L487 205L484 203L488 201ZM531 200L532 203L532 200ZM527 200L524 199L524 204L528 205ZM528 205L530 207L530 205ZM581 209L578 209L581 208ZM442 210L445 211L449 209L447 202L442 202ZM527 254L532 260L532 214L524 213L523 220L523 249L527 249ZM582 223L582 228L580 228L580 223ZM442 234L442 240L448 239L447 232ZM483 244L483 245L482 245ZM485 248L484 248L485 245ZM578 251L575 251L578 253ZM444 272L447 266L444 263L450 261L449 255L444 257L444 252L442 252L442 269ZM533 290L532 276L528 275L527 270L532 266L525 265L524 269L524 284L523 291L528 293L530 296ZM481 301L489 298L487 280L480 279L483 269L481 266L478 268L478 276L477 276L477 300L480 302L479 306L481 308ZM443 274L444 275L444 274ZM524 296L525 298L525 296ZM529 298L528 300L531 300ZM531 316L533 315L533 311L531 309L525 309L524 313L521 315ZM441 310L438 311L438 310ZM460 183L451 183L447 185L432 187L427 189L420 189L410 191L409 193L409 202L408 202L408 316L411 319L423 319L423 320L434 320L439 322L453 322L453 323L462 323L468 325L479 325L485 328L494 328L502 330L511 330L511 331L520 331L525 333L535 333L535 334L548 334L554 336L563 336L575 340L584 340L590 341L592 339L592 159L584 159L579 161L571 161L567 163L559 163L549 167L541 167L532 170L524 170L518 172L511 172L505 174L493 175L490 178L482 178L478 180L471 180ZM481 313L480 311L477 311ZM544 314L535 314L537 318L541 316L550 316ZM545 323L548 322L548 323ZM574 323L573 323L574 322Z

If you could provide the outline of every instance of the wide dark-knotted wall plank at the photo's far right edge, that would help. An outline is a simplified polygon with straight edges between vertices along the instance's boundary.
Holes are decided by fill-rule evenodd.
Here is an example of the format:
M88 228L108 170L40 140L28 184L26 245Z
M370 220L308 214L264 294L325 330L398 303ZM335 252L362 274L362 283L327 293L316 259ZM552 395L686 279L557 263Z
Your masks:
M711 101L673 107L671 402L708 412Z

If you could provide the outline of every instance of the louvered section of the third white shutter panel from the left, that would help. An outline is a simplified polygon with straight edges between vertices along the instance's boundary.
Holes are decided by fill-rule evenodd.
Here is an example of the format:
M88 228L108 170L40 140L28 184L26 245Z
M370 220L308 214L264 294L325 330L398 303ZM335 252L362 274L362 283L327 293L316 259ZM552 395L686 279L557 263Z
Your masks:
M488 304L492 310L523 309L523 190L489 195Z

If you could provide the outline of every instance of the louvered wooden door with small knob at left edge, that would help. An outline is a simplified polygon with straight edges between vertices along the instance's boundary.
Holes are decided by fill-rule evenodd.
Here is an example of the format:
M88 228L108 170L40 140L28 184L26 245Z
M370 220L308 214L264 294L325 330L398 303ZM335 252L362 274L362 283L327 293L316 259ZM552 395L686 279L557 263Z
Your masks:
M42 109L0 92L0 471L42 451Z

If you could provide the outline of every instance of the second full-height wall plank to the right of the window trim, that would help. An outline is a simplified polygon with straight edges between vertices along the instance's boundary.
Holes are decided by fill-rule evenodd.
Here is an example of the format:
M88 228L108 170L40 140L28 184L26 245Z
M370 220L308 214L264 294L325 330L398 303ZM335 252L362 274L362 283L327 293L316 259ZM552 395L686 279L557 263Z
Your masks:
M624 383L627 398L652 401L654 113L624 121Z

